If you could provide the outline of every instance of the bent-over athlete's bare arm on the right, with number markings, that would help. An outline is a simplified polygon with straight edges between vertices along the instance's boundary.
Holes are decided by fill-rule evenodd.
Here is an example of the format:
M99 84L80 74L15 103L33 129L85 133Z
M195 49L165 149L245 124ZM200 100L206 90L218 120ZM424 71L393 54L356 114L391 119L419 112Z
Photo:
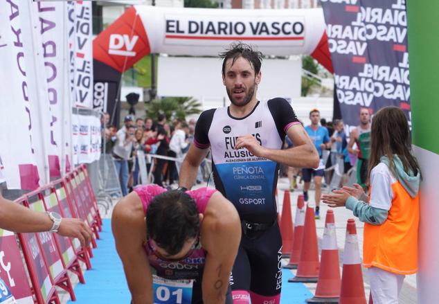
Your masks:
M203 302L224 304L241 240L240 217L231 202L219 192L210 197L209 205L201 231L201 242L207 251L202 282ZM209 213L213 216L210 217Z

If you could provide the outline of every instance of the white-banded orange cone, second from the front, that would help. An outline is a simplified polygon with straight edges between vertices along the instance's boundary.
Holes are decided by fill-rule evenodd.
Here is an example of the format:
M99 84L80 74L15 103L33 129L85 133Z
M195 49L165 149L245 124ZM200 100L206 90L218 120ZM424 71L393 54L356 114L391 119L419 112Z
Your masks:
M307 303L339 303L341 287L339 247L337 247L334 223L334 211L328 210L323 232L319 281L314 298L307 299Z

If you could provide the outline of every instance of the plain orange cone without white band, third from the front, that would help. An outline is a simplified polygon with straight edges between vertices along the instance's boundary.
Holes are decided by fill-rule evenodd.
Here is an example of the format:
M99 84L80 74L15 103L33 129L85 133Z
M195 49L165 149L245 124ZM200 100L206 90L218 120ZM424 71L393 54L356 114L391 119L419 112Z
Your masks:
M314 206L307 204L301 259L298 262L296 276L288 282L316 283L319 278L319 249L317 248L316 220Z

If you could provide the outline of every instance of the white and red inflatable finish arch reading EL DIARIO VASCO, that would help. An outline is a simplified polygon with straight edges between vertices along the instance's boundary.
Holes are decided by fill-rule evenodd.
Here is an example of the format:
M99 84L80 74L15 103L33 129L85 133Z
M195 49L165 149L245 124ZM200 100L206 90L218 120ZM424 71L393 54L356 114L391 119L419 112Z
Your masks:
M312 55L332 73L325 19L319 8L220 10L133 6L93 41L95 105L99 103L96 90L105 83L117 83L120 73L145 55L217 56L234 41L255 45L265 55ZM114 88L107 88L108 104L116 98L114 94Z

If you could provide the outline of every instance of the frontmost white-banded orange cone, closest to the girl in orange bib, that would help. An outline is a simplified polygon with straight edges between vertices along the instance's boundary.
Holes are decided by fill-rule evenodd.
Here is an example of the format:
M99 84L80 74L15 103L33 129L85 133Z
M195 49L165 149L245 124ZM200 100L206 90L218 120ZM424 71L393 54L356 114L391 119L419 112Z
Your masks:
M366 304L364 295L361 259L358 250L355 220L349 219L346 226L346 242L343 252L343 274L341 275L340 304Z

